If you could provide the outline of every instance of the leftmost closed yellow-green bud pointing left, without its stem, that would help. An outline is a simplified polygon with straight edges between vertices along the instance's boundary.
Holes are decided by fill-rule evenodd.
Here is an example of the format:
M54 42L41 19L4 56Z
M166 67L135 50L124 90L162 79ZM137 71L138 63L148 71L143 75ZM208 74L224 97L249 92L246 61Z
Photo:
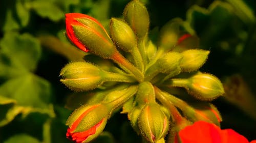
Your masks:
M102 71L86 62L75 62L66 65L60 72L60 81L75 91L88 91L103 83Z

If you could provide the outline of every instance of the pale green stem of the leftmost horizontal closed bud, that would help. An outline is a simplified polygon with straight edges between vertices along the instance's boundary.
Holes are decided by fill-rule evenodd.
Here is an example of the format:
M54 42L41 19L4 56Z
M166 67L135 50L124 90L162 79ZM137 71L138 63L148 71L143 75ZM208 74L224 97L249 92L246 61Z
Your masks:
M104 71L104 77L106 78L106 81L118 81L118 82L136 82L134 77L131 77L130 75L122 75L118 73L113 72L106 72Z

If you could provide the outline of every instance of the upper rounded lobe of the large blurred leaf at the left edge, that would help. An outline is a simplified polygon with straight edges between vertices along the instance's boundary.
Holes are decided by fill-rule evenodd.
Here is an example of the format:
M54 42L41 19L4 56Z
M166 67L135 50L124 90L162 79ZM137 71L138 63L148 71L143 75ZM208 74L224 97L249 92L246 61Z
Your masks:
M18 69L36 69L37 62L41 55L39 41L29 34L18 35L8 32L0 41L0 62L2 65L18 67Z

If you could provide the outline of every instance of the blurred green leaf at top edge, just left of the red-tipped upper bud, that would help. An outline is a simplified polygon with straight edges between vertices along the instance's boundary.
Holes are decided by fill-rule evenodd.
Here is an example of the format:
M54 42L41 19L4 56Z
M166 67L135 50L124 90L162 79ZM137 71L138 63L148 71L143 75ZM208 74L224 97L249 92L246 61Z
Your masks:
M37 0L28 3L29 7L33 9L39 16L49 18L52 21L59 21L64 18L64 12L53 2Z

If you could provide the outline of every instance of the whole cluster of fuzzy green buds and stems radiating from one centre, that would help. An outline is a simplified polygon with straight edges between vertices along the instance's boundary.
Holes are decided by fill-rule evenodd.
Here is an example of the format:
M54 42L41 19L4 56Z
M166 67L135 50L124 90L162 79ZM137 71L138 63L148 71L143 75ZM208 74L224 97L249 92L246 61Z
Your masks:
M66 65L60 81L71 90L94 93L89 99L93 102L69 117L67 137L91 141L120 107L147 142L164 142L166 136L174 142L173 138L179 138L177 132L197 121L219 125L221 116L209 101L224 94L222 83L198 71L209 51L197 49L198 38L186 31L183 20L166 23L158 42L153 43L148 37L148 12L139 0L126 5L123 17L111 18L108 33L95 18L66 14L67 37L92 54L84 58L89 61ZM198 102L189 102L194 98Z

